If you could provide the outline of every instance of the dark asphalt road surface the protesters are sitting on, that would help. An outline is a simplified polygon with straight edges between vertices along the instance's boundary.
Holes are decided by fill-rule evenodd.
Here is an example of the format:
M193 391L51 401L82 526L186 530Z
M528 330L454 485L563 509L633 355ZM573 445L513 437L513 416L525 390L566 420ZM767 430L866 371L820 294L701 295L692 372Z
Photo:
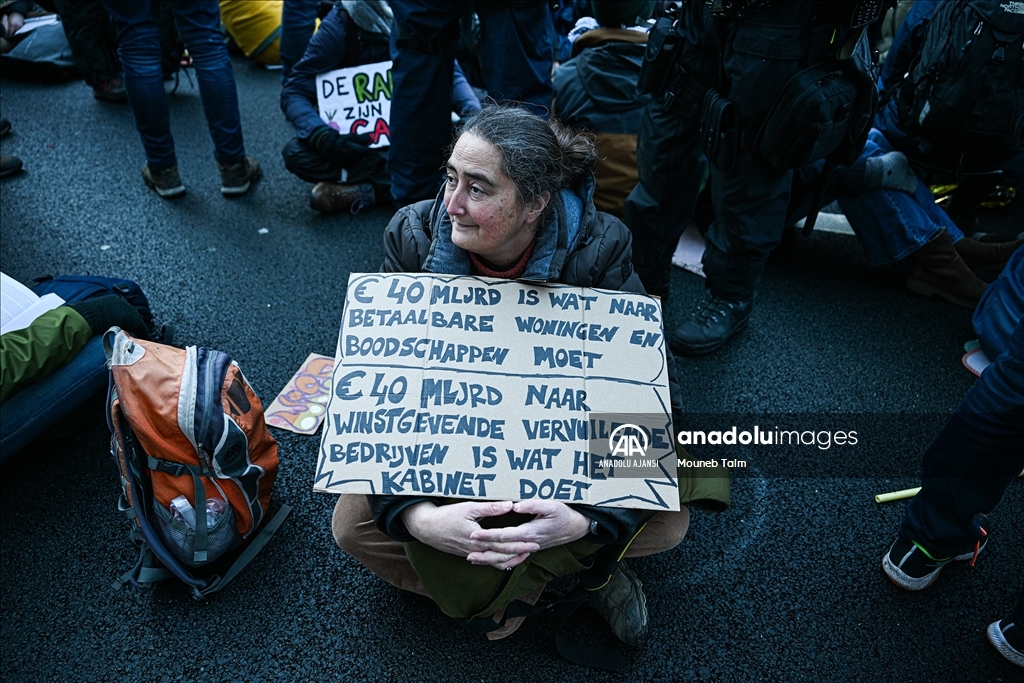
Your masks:
M236 75L247 146L264 178L233 201L220 196L187 83L171 97L171 121L188 191L169 202L142 184L126 104L94 100L80 81L4 81L2 115L14 132L2 150L26 171L0 182L0 268L22 282L136 280L176 343L230 353L268 403L309 352L333 353L349 272L380 264L393 209L311 211L309 186L280 154L291 136L280 73L237 60ZM1021 204L986 219L1020 225ZM677 271L669 325L701 288ZM334 497L312 492L318 439L279 430L274 495L294 511L250 568L204 603L170 583L114 591L135 553L94 401L2 466L0 678L1021 681L984 630L1024 589L1024 480L992 514L976 567L947 568L916 594L880 568L904 503L872 497L918 485L922 453L974 380L961 366L970 339L970 311L916 297L898 271L868 268L855 238L783 244L750 331L710 357L680 360L685 405L858 424L862 444L854 457L811 447L803 467L755 453L735 472L730 510L694 512L679 547L632 561L651 638L643 649L618 647L620 675L560 659L548 617L489 642L372 575L332 541ZM589 608L571 630L615 646Z

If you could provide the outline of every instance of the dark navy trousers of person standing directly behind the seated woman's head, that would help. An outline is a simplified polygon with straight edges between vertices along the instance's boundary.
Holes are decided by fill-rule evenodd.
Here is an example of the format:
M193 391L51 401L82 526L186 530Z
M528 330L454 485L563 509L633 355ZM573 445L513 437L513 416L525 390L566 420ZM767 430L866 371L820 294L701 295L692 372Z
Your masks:
M398 206L433 199L444 150L452 142L455 32L467 0L401 0L392 4L391 195ZM485 8L487 2L478 3ZM475 6L475 5L474 5ZM546 3L508 7L482 22L480 71L488 94L520 100L538 114L551 108L554 29ZM417 43L406 46L401 41ZM399 47L401 45L401 47Z

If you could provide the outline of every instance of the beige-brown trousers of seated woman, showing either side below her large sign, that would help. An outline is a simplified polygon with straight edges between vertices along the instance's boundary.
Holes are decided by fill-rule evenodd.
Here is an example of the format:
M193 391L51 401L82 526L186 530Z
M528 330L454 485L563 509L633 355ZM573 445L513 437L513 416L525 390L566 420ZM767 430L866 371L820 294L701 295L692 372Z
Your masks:
M675 548L689 525L690 511L685 505L679 512L658 512L630 545L626 557L653 555ZM374 525L366 496L340 496L334 506L331 530L338 547L375 574L403 591L430 597L401 544Z

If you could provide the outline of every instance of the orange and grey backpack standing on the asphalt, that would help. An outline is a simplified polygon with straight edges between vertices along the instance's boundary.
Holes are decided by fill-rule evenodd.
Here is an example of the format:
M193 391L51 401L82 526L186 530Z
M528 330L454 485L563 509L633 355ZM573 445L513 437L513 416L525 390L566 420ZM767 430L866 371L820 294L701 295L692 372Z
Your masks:
M291 511L282 506L267 521L279 461L263 407L226 353L134 339L119 328L103 336L103 349L119 507L139 547L115 586L176 577L202 599L233 579ZM222 577L193 572L245 544Z

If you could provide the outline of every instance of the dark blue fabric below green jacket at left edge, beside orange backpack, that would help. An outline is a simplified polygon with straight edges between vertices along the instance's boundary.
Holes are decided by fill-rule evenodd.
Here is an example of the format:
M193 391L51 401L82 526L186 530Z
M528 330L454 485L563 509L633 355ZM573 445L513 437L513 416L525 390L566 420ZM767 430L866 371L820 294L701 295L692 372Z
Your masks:
M0 405L0 463L106 386L102 339L96 335L65 366Z

